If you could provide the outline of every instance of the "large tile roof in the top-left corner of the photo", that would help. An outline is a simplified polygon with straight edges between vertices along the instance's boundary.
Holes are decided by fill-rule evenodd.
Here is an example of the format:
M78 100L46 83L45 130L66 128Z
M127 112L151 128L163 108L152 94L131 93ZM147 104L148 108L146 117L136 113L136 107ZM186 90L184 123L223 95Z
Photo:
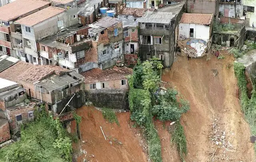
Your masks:
M10 4L0 7L0 20L14 20L20 16L23 16L24 14L49 4L50 2L43 0L16 0Z

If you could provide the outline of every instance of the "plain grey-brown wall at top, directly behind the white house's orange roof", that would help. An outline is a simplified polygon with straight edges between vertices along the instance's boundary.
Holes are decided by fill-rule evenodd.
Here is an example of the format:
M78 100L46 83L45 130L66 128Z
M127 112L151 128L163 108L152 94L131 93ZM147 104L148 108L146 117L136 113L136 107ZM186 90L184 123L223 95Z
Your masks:
M194 4L194 9L190 9ZM219 14L219 0L186 0L186 12L197 14Z

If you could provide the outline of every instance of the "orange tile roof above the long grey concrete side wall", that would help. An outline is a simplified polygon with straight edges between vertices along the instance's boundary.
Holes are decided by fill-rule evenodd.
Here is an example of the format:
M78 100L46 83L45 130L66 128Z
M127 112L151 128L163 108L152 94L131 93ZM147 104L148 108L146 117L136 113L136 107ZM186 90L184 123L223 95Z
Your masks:
M65 11L65 9L63 9L63 8L50 6L48 8L44 8L43 10L35 12L34 14L31 14L22 19L19 19L15 22L20 23L22 25L33 26L33 25L36 25L44 20L52 18L53 16L56 16L64 11Z

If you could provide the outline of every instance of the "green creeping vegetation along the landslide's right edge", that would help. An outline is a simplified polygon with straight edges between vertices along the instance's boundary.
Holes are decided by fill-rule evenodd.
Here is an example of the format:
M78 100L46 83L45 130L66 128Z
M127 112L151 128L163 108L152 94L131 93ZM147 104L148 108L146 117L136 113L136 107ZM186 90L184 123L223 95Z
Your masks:
M246 121L249 123L251 134L256 135L256 91L253 85L251 99L247 96L246 77L244 74L245 67L240 62L234 62L234 72L237 78L238 87L240 90L241 109L245 115ZM255 84L255 83L254 83ZM256 152L256 144L254 144Z

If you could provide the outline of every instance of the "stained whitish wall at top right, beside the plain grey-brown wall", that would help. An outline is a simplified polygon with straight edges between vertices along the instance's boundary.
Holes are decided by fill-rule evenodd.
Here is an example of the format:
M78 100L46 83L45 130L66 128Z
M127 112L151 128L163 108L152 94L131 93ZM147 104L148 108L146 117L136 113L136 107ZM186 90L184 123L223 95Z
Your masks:
M225 10L226 9L226 10ZM227 16L230 18L241 17L242 5L240 2L220 2L219 12L220 16L224 16L224 12L228 11Z

